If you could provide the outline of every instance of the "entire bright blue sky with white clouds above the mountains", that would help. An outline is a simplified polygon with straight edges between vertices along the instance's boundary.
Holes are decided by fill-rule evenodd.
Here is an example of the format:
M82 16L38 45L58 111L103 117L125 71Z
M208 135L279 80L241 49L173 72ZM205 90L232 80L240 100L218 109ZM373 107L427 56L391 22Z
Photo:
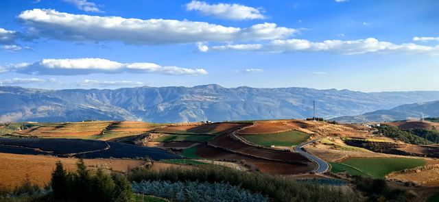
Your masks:
M0 84L439 90L439 1L2 0Z

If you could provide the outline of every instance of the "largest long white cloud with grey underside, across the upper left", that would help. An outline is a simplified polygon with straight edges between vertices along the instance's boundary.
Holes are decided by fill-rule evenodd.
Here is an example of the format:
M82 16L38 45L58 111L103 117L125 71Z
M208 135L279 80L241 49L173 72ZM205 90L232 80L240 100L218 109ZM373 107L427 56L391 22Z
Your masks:
M286 38L297 32L296 29L277 27L275 23L239 28L205 22L90 16L40 9L26 10L18 17L39 36L60 40L120 41L137 45L272 40Z

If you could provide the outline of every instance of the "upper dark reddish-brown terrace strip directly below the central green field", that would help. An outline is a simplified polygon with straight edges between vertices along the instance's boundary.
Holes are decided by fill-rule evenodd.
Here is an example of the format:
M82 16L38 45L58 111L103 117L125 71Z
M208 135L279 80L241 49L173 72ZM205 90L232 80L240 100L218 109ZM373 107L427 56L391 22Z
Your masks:
M231 151L235 151L238 153L244 153L248 155L254 155L257 157L263 157L270 160L283 160L287 162L300 162L300 163L309 163L310 161L300 155L299 153L293 153L289 151L277 151L273 149L264 149L259 147L252 147L248 144L244 144L237 140L233 140L227 134L222 134L217 136L215 139L209 142L217 147L223 147L226 149L230 149Z

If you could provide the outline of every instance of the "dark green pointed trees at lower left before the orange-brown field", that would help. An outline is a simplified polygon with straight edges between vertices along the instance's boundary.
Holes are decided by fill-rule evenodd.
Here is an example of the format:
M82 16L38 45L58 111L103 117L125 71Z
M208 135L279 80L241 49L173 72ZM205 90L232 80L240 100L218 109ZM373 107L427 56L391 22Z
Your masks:
M133 198L130 182L123 175L108 175L98 168L87 170L78 161L76 173L67 172L57 162L52 173L51 187L56 201L130 201Z

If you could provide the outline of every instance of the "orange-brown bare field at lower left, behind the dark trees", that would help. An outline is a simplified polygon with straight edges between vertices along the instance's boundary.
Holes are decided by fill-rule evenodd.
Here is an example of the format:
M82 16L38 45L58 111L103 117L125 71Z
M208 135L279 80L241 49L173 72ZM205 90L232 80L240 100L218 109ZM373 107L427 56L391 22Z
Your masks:
M51 172L55 168L57 160L61 160L64 168L75 171L76 158L57 158L45 155L20 155L11 153L0 153L0 188L14 188L21 184L26 177L37 184L45 186L49 183ZM129 168L135 168L146 163L145 160L110 160L93 159L84 160L89 168L102 166L106 170L126 172Z

